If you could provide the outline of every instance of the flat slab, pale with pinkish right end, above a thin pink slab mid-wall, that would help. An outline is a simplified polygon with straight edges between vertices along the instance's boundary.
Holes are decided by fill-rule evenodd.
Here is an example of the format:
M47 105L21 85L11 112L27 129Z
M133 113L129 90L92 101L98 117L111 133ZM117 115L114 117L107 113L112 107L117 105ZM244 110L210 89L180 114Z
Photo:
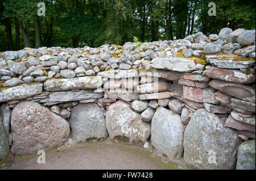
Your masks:
M137 90L140 94L146 93L157 93L168 91L170 89L171 83L169 82L154 82L154 83L146 83L143 85L138 85Z

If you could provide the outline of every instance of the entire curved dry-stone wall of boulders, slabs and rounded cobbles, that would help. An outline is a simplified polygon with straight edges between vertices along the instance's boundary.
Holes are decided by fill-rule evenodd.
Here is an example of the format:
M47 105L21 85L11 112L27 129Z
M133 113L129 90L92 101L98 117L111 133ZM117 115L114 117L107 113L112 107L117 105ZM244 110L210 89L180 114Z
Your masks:
M150 139L196 169L255 169L255 30L1 52L0 78L0 159Z

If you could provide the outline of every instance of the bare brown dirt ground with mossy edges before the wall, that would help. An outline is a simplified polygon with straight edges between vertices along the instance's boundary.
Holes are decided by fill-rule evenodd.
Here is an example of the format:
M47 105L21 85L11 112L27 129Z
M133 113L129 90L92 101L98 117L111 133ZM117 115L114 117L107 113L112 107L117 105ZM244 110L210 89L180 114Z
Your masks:
M46 163L38 163L39 155L10 155L0 162L0 169L102 169L102 170L175 170L190 169L183 159L171 161L154 149L124 145L111 141L83 142L46 150Z

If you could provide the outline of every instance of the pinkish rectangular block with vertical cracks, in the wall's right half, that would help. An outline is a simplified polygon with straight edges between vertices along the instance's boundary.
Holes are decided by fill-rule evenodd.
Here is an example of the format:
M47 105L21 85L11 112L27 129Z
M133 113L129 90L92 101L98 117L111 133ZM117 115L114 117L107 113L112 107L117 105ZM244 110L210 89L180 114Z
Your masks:
M215 98L215 91L212 88L200 89L197 87L183 86L184 99L192 100L199 103L218 104Z

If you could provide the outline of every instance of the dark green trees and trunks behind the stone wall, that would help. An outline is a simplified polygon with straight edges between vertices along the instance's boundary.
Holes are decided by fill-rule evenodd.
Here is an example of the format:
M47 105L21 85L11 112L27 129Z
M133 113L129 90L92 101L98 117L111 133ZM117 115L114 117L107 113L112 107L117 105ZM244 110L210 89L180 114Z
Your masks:
M38 16L38 3L46 16ZM133 41L182 39L229 27L255 29L255 1L1 0L0 51L23 47L98 47ZM15 39L14 39L15 38Z

